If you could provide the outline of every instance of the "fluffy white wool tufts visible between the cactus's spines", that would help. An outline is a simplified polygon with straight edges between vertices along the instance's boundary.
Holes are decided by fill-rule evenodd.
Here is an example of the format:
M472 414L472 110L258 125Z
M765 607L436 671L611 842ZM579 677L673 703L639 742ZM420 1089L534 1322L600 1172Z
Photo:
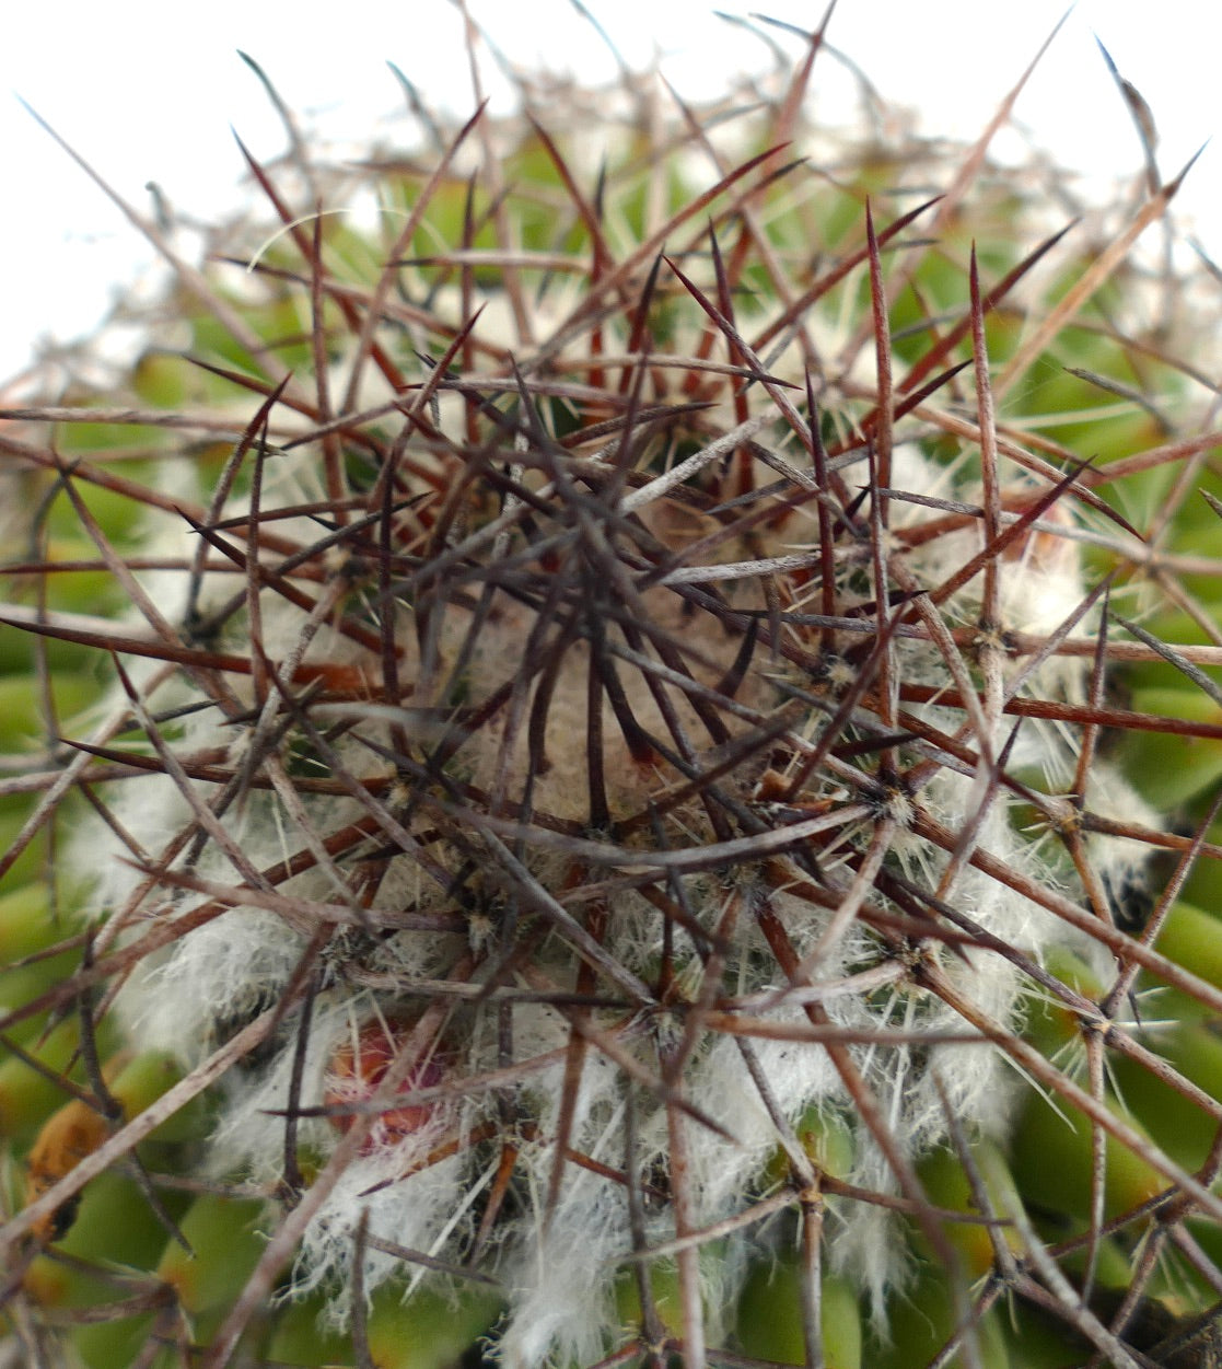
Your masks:
M935 472L911 452L903 456L902 464L896 481L906 479L911 489L932 487L946 478L944 472ZM289 465L281 478L291 479ZM291 491L291 497L307 498L311 493L305 487ZM289 491L281 489L278 497L287 498ZM913 557L910 567L915 567L929 583L936 583L970 554L972 539L965 534L931 548L928 564L922 565L920 557ZM948 616L970 622L977 608L976 591L976 586L961 591L948 605ZM213 586L212 593L231 593L231 585ZM1026 557L1006 565L1003 604L1007 615L1013 615L1013 623L1007 626L1047 631L1080 598L1076 560L1062 543L1052 545L1051 553L1043 556L1032 549ZM278 612L267 612L263 632L270 649L283 654L291 650L304 619L296 609L285 611L283 619L276 617ZM530 615L508 606L494 623L490 622L479 639L469 664L472 679L495 682L512 674L513 661L520 657L528 634ZM342 643L335 638L327 639L327 652L334 654L341 649ZM728 665L727 653L732 654L735 643L712 643L707 649L713 665L724 669ZM443 642L442 650L450 652L452 646ZM909 678L939 686L946 683L944 668L928 645L911 643L903 648L902 654ZM586 654L580 645L575 646L571 660L571 678L556 682L549 713L551 768L539 778L534 791L535 802L561 819L579 816L584 795ZM409 665L411 661L406 663ZM579 665L583 668L579 669ZM1073 669L1048 667L1041 687L1061 693L1078 690L1081 671L1076 676ZM664 734L665 724L654 700L639 680L629 687L635 691L632 705L636 716L646 727ZM478 693L479 684L473 689ZM764 684L754 689L754 695L749 691L749 704L765 698ZM688 716L683 701L676 706L680 716ZM952 715L932 706L928 716L937 719L940 726L950 726L947 719ZM504 778L508 773L512 780L521 772L524 737L517 750L502 752L498 742L501 726L502 720L498 720L487 728L483 743L464 752L472 783L491 786L498 775ZM605 726L606 735L613 737L614 720L609 717ZM1003 738L992 741L1000 745ZM196 749L229 747L233 730L215 711L205 712L183 724L181 743ZM345 745L343 754L354 758L359 749L353 743ZM1026 747L1024 764L1052 773L1065 769L1063 745L1054 731L1029 728L1022 745ZM628 799L639 802L643 783L627 756L608 752L606 787L613 805L627 804ZM1106 791L1106 808L1132 809L1132 795L1114 778L1100 772L1099 786L1100 791ZM976 776L943 772L915 798L940 823L959 830L967 821L977 794ZM827 795L840 801L844 791L832 784ZM308 799L307 810L319 831L334 830L361 812L354 801L345 798ZM130 794L116 798L115 812L149 853L164 849L190 819L185 801L168 780L131 786ZM227 815L224 823L256 868L283 860L298 842L291 819L275 795L265 791L252 795ZM863 842L866 836L862 827L848 834L846 841ZM1066 869L1063 862L1054 868L1045 854L1047 843L1039 834L1033 836L1015 830L1004 799L998 801L980 827L977 842L1021 873L1045 883L1063 883L1069 893L1077 895L1073 871ZM1132 854L1119 850L1121 843L1114 842L1113 846L1118 868L1125 860L1133 864ZM103 882L100 901L107 908L122 908L137 887L138 876L127 867L116 865L112 856L114 838L94 828L81 838L75 860L83 868L119 872ZM935 886L946 869L943 853L905 832L896 835L891 860L902 873L929 886ZM532 861L536 878L562 902L562 864L546 852L532 857ZM231 862L215 845L209 845L193 869L205 879L234 880ZM829 858L828 872L831 879L847 887L850 875L837 871L835 858ZM796 871L794 878L799 878ZM728 888L713 875L690 880L687 888L692 917L712 931L727 908ZM316 872L285 883L282 891L322 901L335 895L327 879ZM740 893L750 908L750 887ZM203 895L182 895L145 909L142 916L181 917L201 899ZM954 899L989 932L1036 957L1052 938L1062 935L1050 914L972 868L958 873ZM421 912L450 910L437 884L423 879L408 861L400 860L379 888L374 908L393 910L406 906ZM785 921L798 954L805 956L820 946L827 917L814 916L807 902L790 899L784 893L776 897L776 910ZM613 912L605 938L608 951L632 973L647 976L661 949L655 912L643 899L634 898L623 899ZM237 906L216 917L175 941L133 976L122 998L133 1035L149 1045L170 1047L187 1062L197 1062L216 1047L227 1031L234 1029L234 1024L250 1020L276 1001L300 961L305 941L302 928L286 925L271 910ZM333 977L320 991L315 1008L305 1055L302 1105L316 1108L322 1102L328 1060L337 1040L380 1010L378 984L393 982L397 987L390 998L406 998L406 990L413 983L445 972L460 943L461 936L453 932L400 931L382 938L374 949L365 947L364 958L354 956L353 964L359 961L354 975L352 964L346 964L343 957L335 958ZM472 945L476 945L473 930ZM676 932L676 945L690 986L698 987L702 969L691 938L687 932ZM824 986L824 1001L833 1024L866 1031L880 1025L913 1032L962 1028L955 1013L939 999L902 983L883 986L868 995L836 988L847 976L868 969L872 960L877 960L874 942L855 927L848 927L835 945L824 947L811 982L805 987ZM1019 976L1000 956L985 949L973 950L966 961L943 956L941 968L957 988L991 1019L1004 1024L1015 1021ZM535 983L538 987L541 982L550 982L557 988L571 988L575 972L572 956L556 939L545 941L532 972L542 977L534 982L517 977L515 983L519 987ZM805 1010L791 1001L750 916L739 917L735 924L724 984L729 991L751 997L754 1003L762 1005L753 1012L766 1016L777 1028L788 1024L801 1035L807 1021ZM235 1073L226 1086L226 1102L212 1146L215 1173L244 1175L259 1181L275 1177L283 1132L272 1114L290 1102L289 1082L298 1021L296 1012L287 1014L268 1057ZM468 1012L461 1021L468 1034L463 1049L464 1071L472 1075L495 1071L502 1064L495 1013L478 1009ZM642 1071L657 1073L655 1040L649 1031L620 1021L617 1013L610 1010L593 1012L590 1024L610 1035ZM513 1043L516 1061L523 1066L521 1077L501 1097L508 1099L523 1123L530 1121L531 1128L528 1132L523 1129L520 1138L520 1191L515 1197L520 1212L498 1231L489 1257L510 1305L501 1354L513 1369L534 1369L549 1362L586 1364L606 1351L617 1316L610 1292L613 1276L619 1270L623 1277L623 1262L634 1244L624 1188L605 1173L565 1165L554 1209L546 1210L546 1194L557 1166L554 1138L562 1113L569 1039L568 1020L554 1008L534 1005L515 1009ZM785 1125L795 1127L811 1109L846 1108L844 1084L821 1047L801 1040L761 1039L753 1040L750 1049ZM947 1106L969 1129L992 1135L1004 1132L1011 1077L992 1049L946 1045L920 1050L885 1045L854 1047L853 1055L877 1101L880 1116L907 1155L917 1155L946 1139ZM636 1109L631 1128L635 1149L627 1144L629 1092ZM731 1035L721 1034L697 1046L683 1072L681 1094L697 1113L724 1120L732 1138L684 1118L690 1217L699 1225L712 1225L740 1212L744 1195L764 1183L769 1161L777 1154L780 1134L743 1051ZM426 1157L446 1135L473 1135L497 1116L495 1098L487 1091L475 1091L439 1108L434 1121L415 1135L363 1154L341 1177L305 1232L294 1272L298 1290L330 1288L337 1292L337 1309L342 1309L353 1232L361 1220L374 1236L441 1259L458 1258L463 1243L469 1240L478 1224L478 1209L491 1181L494 1157L479 1146L460 1146L457 1153L432 1162L427 1162ZM608 1172L619 1172L628 1165L636 1165L642 1173L649 1173L651 1166L657 1172L665 1169L669 1146L665 1103L639 1080L629 1084L620 1065L597 1042L591 1042L584 1051L579 1091L568 1099L568 1125L569 1147ZM300 1140L326 1157L337 1144L338 1135L326 1120L312 1118L302 1123ZM848 1181L894 1192L895 1179L865 1127L857 1128L855 1149L855 1162L846 1176ZM885 1291L905 1277L906 1257L902 1244L894 1239L892 1220L879 1207L862 1206L851 1221L837 1216L839 1212L833 1212L828 1224L832 1262L851 1275L877 1309ZM669 1221L665 1210L651 1213L647 1223L651 1238L665 1240L668 1231L673 1235ZM732 1249L725 1247L716 1259L706 1259L710 1318L717 1307L731 1301L732 1285L743 1268L743 1242L739 1242ZM371 1250L364 1269L365 1287L375 1288L398 1268L390 1255Z

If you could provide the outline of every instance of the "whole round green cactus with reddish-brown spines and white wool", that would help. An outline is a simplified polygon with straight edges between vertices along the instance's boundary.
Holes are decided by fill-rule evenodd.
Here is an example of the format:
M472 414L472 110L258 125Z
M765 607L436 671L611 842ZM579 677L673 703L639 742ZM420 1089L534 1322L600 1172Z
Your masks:
M1178 178L821 134L820 42L248 157L0 415L31 1362L1207 1335L1217 287Z

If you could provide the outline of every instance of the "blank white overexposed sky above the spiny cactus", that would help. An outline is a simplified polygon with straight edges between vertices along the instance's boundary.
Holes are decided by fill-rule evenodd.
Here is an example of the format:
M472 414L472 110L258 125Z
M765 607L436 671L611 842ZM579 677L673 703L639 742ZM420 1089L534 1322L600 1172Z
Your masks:
M716 93L765 45L716 10L762 8L816 27L822 0L587 0L634 64L658 62L677 89ZM614 66L569 0L469 0L473 18L515 62L591 82ZM840 0L828 41L925 133L970 137L1065 15L1063 0ZM1130 116L1096 47L1151 107L1166 178L1218 127L1222 7L1203 0L1080 0L1025 90L1017 119L1066 164L1103 175L1141 170ZM796 41L788 41L798 52ZM461 16L447 0L67 0L23 5L0 44L0 381L48 340L94 326L148 255L103 193L18 101L53 125L141 211L156 182L183 211L209 216L235 200L242 162L283 146L279 120L237 49L324 137L350 140L397 114L394 62L432 101L472 108ZM495 88L491 63L486 64ZM817 68L818 71L818 68ZM816 77L818 85L820 77ZM1177 216L1222 260L1222 140L1177 200Z

